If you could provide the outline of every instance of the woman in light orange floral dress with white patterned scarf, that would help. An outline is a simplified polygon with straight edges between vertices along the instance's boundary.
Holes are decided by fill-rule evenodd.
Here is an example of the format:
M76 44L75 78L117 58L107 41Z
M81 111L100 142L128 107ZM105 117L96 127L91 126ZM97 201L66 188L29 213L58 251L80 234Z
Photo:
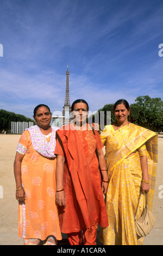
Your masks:
M14 162L18 235L24 245L56 245L61 240L55 204L55 131L52 114L41 104L34 109L36 125L22 133Z

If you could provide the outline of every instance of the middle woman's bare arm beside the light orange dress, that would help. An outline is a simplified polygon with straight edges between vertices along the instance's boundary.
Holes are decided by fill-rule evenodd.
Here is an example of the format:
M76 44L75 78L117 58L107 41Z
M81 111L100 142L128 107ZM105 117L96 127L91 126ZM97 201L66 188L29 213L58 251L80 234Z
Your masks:
M65 191L60 191L64 188L63 179L64 179L64 163L65 157L61 155L57 155L57 164L55 170L55 177L56 177L56 197L55 200L57 204L60 206L66 207L66 200L65 200Z

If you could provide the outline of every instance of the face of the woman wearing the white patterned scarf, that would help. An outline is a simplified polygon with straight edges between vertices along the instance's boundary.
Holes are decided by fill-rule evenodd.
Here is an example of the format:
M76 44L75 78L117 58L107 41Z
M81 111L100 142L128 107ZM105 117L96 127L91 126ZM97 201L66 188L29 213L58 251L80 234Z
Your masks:
M49 112L48 108L42 106L37 109L34 119L40 128L48 129L51 124L52 113Z

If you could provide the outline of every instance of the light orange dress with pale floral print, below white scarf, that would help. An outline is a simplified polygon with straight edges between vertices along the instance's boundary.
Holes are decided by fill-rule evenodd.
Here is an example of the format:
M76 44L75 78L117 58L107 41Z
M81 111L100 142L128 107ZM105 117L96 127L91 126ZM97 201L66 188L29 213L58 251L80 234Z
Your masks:
M46 140L49 143L51 135ZM55 157L45 157L33 147L26 130L18 142L17 152L23 154L21 164L25 204L18 205L18 235L24 239L61 240L57 205L55 205ZM26 240L25 240L26 241Z

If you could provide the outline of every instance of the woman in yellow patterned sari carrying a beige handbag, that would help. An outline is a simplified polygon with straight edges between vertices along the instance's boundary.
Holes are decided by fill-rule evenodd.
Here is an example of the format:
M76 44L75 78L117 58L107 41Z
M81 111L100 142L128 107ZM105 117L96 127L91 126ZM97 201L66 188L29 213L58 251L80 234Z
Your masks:
M157 166L157 135L128 121L130 113L126 100L114 105L116 122L105 126L101 139L105 145L109 186L105 204L109 227L102 228L100 241L104 245L141 245L137 240L134 214L142 190L137 218L145 205L152 210Z

